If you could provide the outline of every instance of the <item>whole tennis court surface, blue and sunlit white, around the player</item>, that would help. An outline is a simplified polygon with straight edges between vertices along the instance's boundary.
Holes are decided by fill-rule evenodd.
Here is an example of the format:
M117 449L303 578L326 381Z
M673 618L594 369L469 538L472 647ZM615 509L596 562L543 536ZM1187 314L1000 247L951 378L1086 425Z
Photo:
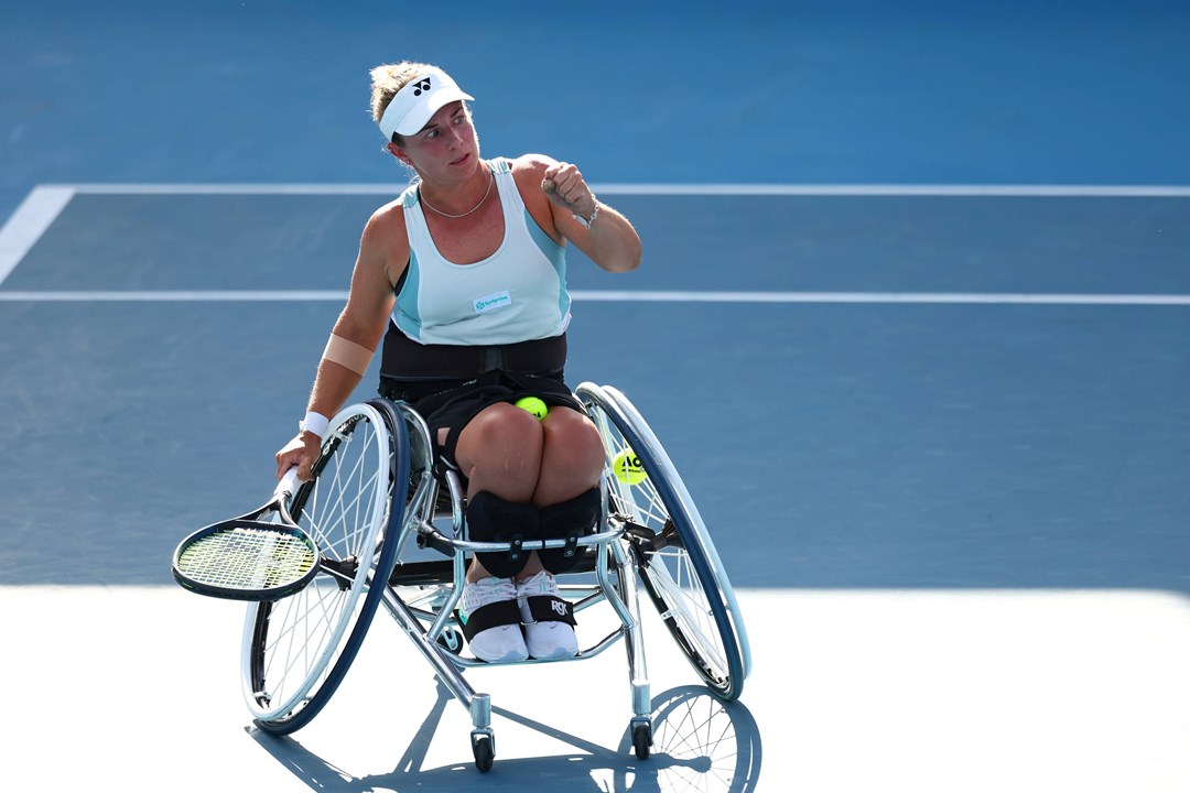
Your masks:
M381 4L5 12L0 608L39 649L0 661L18 787L1183 789L1190 13L615 11L462 4L416 34ZM383 617L270 738L242 608L173 585L181 536L271 490L403 185L362 108L406 56L478 97L487 155L574 159L645 243L622 276L571 253L568 378L663 441L757 665L716 709L653 634L649 763L609 657L481 671L505 743L480 776Z

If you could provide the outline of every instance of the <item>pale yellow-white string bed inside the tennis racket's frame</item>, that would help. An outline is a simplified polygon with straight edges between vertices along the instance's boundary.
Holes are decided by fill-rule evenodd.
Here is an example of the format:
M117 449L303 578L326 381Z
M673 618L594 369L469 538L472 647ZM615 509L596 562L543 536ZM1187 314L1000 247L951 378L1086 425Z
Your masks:
M299 536L237 527L194 542L178 556L177 567L207 586L269 590L300 580L315 561Z

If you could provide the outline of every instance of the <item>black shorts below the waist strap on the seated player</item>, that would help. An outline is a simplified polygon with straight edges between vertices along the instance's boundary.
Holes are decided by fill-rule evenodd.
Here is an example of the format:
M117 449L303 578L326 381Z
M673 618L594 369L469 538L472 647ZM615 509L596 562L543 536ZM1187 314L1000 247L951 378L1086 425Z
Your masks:
M434 470L438 473L445 468L458 471L455 460L458 435L488 405L497 402L513 403L521 397L536 396L551 408L564 407L585 413L582 403L565 384L562 372L528 375L493 370L471 380L411 383L403 389L384 384L380 389L380 395L387 399L408 403L425 420L430 428ZM443 428L450 432L445 441L439 443L438 430ZM465 480L465 477L463 479Z

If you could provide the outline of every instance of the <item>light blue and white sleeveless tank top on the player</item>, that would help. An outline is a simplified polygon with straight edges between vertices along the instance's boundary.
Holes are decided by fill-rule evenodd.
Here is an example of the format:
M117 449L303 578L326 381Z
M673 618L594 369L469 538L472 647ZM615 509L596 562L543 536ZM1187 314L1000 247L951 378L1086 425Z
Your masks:
M416 185L401 194L409 268L393 322L420 344L507 345L562 334L570 323L565 250L528 214L511 162L490 163L505 216L495 253L475 264L447 262L434 245Z

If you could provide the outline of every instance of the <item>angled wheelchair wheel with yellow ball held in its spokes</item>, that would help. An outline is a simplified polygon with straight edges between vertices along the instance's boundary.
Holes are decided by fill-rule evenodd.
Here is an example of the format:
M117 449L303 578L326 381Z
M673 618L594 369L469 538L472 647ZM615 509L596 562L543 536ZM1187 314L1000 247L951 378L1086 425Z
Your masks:
M645 591L707 686L725 701L735 699L751 667L747 634L682 478L620 391L583 383L576 395L603 438L609 520L627 525Z

